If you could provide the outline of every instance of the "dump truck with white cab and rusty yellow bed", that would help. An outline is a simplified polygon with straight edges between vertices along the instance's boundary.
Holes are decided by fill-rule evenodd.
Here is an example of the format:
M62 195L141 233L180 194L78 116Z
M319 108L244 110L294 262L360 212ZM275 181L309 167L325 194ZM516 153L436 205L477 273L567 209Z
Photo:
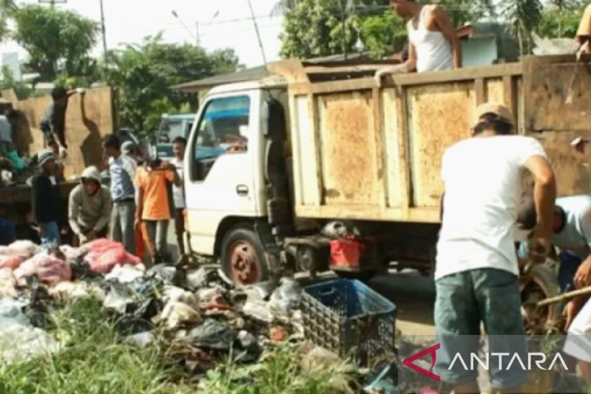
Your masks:
M543 144L560 196L591 192L589 60L526 57L396 74L380 86L376 64L287 60L268 64L263 79L214 87L184 162L189 250L219 258L239 285L285 267L428 273L440 228L441 157L469 137L480 103L505 103L518 133Z

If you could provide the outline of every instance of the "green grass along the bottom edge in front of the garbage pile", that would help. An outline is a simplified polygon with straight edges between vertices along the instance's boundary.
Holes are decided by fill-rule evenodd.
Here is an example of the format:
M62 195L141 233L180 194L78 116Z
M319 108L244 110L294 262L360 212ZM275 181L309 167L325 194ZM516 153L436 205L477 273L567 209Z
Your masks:
M170 346L158 341L144 349L121 343L113 317L93 298L78 299L53 314L51 331L64 344L55 354L0 364L4 394L336 394L346 382L343 365L303 372L297 347L267 352L248 367L229 363L212 370L200 389L183 382L171 367Z

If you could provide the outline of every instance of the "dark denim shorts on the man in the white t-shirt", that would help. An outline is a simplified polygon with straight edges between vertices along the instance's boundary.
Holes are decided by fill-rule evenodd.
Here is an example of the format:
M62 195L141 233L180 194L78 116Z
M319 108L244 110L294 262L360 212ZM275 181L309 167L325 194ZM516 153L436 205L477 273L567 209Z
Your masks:
M469 363L470 354L478 354L481 323L488 335L489 353L518 353L527 359L517 276L500 269L473 269L438 279L436 291L435 326L441 347L435 372L443 382L459 385L478 377L477 370L466 370L453 359L460 353ZM516 388L527 380L527 371L506 370L506 363L501 370L498 357L490 359L489 375L495 389Z

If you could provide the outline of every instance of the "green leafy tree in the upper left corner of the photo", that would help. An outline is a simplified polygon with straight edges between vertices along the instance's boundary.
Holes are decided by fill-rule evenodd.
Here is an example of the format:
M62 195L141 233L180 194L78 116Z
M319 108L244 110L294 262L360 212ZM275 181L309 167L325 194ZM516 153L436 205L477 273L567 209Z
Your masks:
M80 76L92 63L88 54L96 44L99 24L73 11L39 5L13 8L12 37L27 50L28 66L43 80L53 80L60 73Z

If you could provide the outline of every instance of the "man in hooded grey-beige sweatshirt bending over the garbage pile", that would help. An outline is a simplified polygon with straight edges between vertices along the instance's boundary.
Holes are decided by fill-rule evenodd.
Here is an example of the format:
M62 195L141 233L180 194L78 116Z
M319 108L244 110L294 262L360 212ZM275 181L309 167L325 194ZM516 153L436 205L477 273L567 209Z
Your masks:
M70 228L80 245L106 237L112 207L111 191L100 184L98 168L86 168L80 184L70 193L68 204Z

